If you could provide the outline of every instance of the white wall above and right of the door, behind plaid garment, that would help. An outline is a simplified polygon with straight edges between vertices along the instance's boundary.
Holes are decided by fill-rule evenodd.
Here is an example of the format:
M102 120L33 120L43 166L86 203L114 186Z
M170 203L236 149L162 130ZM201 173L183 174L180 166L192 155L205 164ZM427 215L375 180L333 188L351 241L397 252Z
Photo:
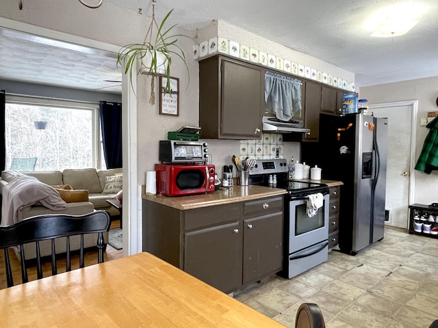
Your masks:
M426 118L428 111L437 111L438 77L416 79L361 87L361 98L368 99L370 104L395 102L402 100L418 100L417 136L415 141L415 161L422 150L424 139L429 131L426 126L420 126L420 118ZM438 172L425 174L415 170L414 202L431 204L438 202Z

